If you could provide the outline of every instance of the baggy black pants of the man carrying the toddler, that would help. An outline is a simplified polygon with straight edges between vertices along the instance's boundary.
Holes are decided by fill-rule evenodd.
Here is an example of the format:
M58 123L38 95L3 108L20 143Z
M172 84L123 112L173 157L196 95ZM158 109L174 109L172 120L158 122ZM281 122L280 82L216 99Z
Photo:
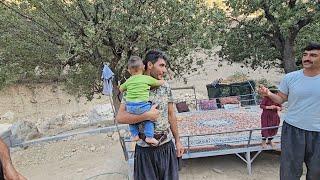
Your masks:
M172 141L159 147L136 145L135 180L178 180L178 159Z

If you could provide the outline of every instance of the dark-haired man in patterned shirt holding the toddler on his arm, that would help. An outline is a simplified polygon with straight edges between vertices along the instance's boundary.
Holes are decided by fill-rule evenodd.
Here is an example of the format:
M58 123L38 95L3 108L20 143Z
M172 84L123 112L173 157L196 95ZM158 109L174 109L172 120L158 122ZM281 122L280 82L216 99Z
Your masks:
M143 61L144 74L162 80L167 72L167 61L168 58L162 51L149 51ZM178 180L177 157L182 156L184 148L179 138L173 97L168 83L165 82L158 88L151 89L149 100L155 105L150 111L140 115L127 112L126 102L123 101L116 117L116 120L123 124L136 124L145 120L152 120L155 123L154 138L159 143L157 146L152 146L143 139L137 141L134 157L134 179ZM173 138L175 144L172 141Z

